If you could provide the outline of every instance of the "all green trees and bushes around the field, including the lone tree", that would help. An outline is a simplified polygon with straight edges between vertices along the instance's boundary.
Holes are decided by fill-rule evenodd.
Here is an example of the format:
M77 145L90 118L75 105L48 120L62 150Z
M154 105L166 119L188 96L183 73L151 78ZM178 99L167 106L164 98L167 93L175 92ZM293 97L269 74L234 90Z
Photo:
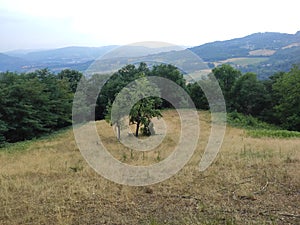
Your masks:
M300 131L299 67L294 66L289 72L276 73L264 81L258 80L254 73L242 75L230 65L214 68L213 74L223 91L227 109L231 112L228 114L228 122L231 125L247 129L263 129L251 131L254 132L251 135L274 137L298 135L274 130L277 126ZM122 124L119 122L128 113L124 111L128 103L124 98L135 100L130 110L130 120L137 125L136 136L140 128L143 134L150 135L151 118L161 116L159 109L173 106L157 97L143 95L146 92L158 95L158 90L147 81L148 76L163 77L175 82L190 94L198 109L209 109L208 101L200 86L197 83L186 85L183 74L172 65L155 65L152 68L148 68L145 63L137 67L127 65L112 76L93 75L88 79L74 70L63 70L57 75L48 69L27 74L0 73L0 145L4 142L32 139L70 125L72 103L75 108L73 118L76 121L90 120L93 117L89 115L95 115L96 120L106 118L121 128ZM208 79L201 82L206 82L205 84L209 86L210 80L209 75ZM131 82L137 88L135 91L126 89ZM102 89L98 95L99 87ZM211 91L215 88L210 87ZM127 94L118 100L115 110L117 114L113 116L115 121L110 121L113 114L112 104L120 91ZM78 98L73 102L75 92ZM180 92L174 92L168 86L160 92L161 96L170 97L179 103L178 105L182 105L180 103L185 101ZM80 118L81 115L85 115L86 118Z

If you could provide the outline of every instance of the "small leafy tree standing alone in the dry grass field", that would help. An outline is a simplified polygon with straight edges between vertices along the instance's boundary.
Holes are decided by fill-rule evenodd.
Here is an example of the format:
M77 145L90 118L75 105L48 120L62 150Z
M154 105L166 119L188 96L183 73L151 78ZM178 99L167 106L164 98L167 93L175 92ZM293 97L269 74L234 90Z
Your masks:
M129 121L136 124L135 136L138 137L140 128L144 135L151 135L151 119L161 117L158 107L161 105L159 90L140 72L138 78L124 87L115 97L113 103L107 106L106 121L117 128L120 140L120 130L124 124L124 117L129 116Z

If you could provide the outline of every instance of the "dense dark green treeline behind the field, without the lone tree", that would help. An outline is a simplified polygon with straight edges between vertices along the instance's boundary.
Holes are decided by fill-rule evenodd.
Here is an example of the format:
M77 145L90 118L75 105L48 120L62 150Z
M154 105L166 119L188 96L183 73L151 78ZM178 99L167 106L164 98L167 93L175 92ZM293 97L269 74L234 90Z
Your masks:
M242 74L228 64L214 68L212 74L219 81L231 116L244 114L282 129L300 131L300 69L297 66L266 80L259 80L255 73ZM115 72L105 82L96 104L86 101L86 109L95 112L97 120L104 119L116 95L141 76L168 78L191 96L197 109L209 110L200 86L187 84L176 67L162 64L149 68L145 63L127 65ZM209 82L210 77L203 82ZM86 78L76 70L66 69L58 74L48 69L0 73L0 144L36 138L70 126L73 98L81 79L88 88L97 88L99 76ZM180 101L181 96L174 98ZM152 105L155 109L172 107L165 100Z

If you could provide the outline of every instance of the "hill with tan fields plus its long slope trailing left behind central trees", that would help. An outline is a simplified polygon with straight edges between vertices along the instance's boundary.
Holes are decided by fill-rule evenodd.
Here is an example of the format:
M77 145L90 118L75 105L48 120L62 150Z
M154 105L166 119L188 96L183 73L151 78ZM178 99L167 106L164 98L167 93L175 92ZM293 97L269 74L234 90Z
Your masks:
M200 59L196 62L190 52L199 56L203 61ZM109 69L114 70L126 64L141 61L150 65L154 62L173 62L186 73L189 73L189 70L200 70L203 72L200 75L203 75L209 73L209 69L228 63L243 73L254 72L260 79L266 79L278 71L289 71L293 64L300 64L300 32L296 34L256 33L181 51L158 54L149 52L148 55L139 57L115 55L116 57L97 62L97 69L108 72Z

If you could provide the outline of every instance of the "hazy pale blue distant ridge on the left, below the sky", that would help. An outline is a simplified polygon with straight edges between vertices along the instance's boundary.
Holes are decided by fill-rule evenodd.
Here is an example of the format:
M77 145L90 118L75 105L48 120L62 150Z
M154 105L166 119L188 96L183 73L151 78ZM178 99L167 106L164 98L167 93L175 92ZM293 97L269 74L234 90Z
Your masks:
M103 46L103 47L80 47L71 46L58 49L40 51L12 51L1 53L0 71L28 72L41 68L49 68L54 72L70 68L79 71L86 70L89 65L100 57L142 57L148 54L158 54L181 49L178 46L144 47L144 46ZM110 51L113 54L109 54ZM6 58L6 59L5 59Z

